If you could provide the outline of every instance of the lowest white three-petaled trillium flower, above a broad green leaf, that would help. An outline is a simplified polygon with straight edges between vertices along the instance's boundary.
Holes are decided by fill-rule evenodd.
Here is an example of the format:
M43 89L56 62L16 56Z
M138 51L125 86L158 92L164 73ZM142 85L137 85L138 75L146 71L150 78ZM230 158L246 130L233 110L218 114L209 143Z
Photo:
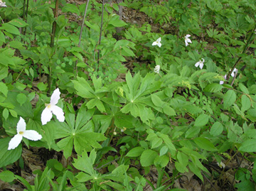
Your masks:
M38 132L34 130L26 130L26 122L22 117L20 117L20 120L17 124L17 134L13 138L11 138L8 150L16 148L19 143L21 143L23 137L28 138L32 141L38 141L42 138L41 134L39 134Z

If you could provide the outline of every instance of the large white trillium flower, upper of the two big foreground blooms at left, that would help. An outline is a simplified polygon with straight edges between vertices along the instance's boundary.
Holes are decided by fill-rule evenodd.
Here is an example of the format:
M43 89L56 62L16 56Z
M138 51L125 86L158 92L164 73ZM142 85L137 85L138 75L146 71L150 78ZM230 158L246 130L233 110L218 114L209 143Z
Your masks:
M63 122L65 120L63 109L56 106L60 99L60 89L55 89L50 97L50 104L46 104L46 109L43 109L41 114L42 124L45 125L52 119L53 114L57 117L58 121Z

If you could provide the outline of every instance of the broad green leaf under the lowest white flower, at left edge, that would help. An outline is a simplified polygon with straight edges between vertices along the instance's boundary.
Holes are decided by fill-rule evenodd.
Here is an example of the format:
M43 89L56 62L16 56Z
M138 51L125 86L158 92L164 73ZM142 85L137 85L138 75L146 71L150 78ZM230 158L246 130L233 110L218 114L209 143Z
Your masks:
M21 144L14 149L7 150L10 140L11 138L9 137L0 139L0 168L14 163L16 160L18 160L18 158L21 157Z

